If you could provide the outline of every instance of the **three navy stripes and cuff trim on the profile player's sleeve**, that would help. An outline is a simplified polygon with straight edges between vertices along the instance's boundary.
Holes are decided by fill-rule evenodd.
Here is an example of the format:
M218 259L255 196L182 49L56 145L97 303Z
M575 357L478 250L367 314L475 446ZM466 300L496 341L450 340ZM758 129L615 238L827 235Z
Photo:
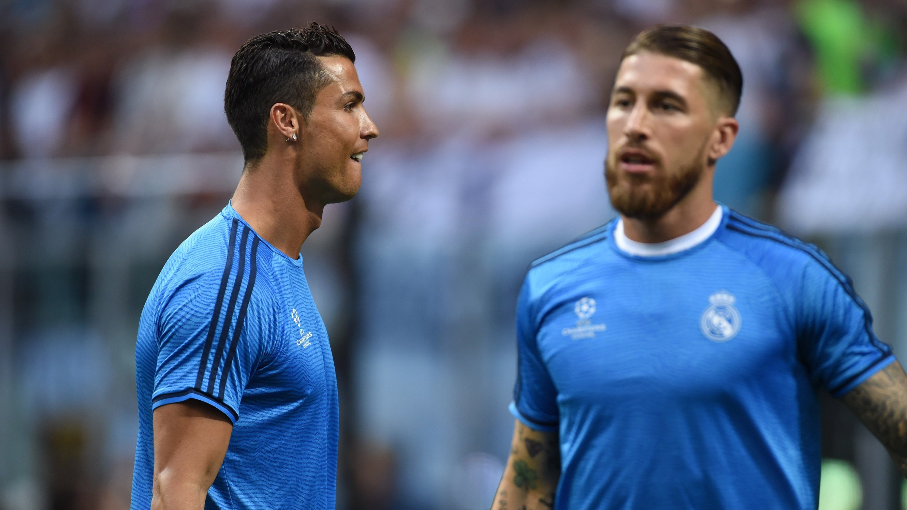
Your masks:
M230 276L233 274L234 269L234 259L236 252L236 237L239 229L242 229L239 240L239 260L236 264L236 276L232 279L233 285L229 293L229 301L224 311L224 297L227 295L227 290L230 287ZM242 284L246 277L246 252L247 246L249 245L249 234L251 229L248 226L239 224L239 220L233 219L233 223L230 226L229 231L229 245L227 246L227 264L224 265L223 274L220 277L220 287L218 289L218 297L214 304L214 312L211 314L211 323L208 329L208 335L205 338L205 345L201 351L201 361L199 363L199 371L195 378L195 387L190 390L180 391L179 393L170 393L165 395L159 395L154 399L155 402L161 399L167 399L170 401L180 401L181 397L185 397L189 394L194 394L201 397L205 401L214 400L210 402L214 404L221 410L229 411L231 418L234 422L239 419L239 414L236 409L232 409L229 405L224 403L223 396L224 390L227 387L227 379L229 378L230 368L232 367L233 361L236 358L237 346L239 345L239 334L242 332L243 323L246 319L246 312L249 309L249 300L252 296L252 290L255 287L255 278L257 273L257 262L258 257L258 236L255 236L252 233L252 242L249 251L249 280L246 283L245 290L243 291L242 301L239 304L239 312L237 313L237 302L239 301L239 293L242 290ZM223 313L221 313L223 312ZM232 334L230 334L230 326L233 323L233 315L236 313L236 325L232 329ZM223 317L221 318L221 314ZM216 342L215 342L216 339ZM213 360L210 363L209 360L212 357L213 350ZM220 364L220 361L223 359L226 353L226 360L223 365ZM221 366L223 367L221 370ZM207 375L207 377L206 377ZM216 390L216 391L215 391Z

